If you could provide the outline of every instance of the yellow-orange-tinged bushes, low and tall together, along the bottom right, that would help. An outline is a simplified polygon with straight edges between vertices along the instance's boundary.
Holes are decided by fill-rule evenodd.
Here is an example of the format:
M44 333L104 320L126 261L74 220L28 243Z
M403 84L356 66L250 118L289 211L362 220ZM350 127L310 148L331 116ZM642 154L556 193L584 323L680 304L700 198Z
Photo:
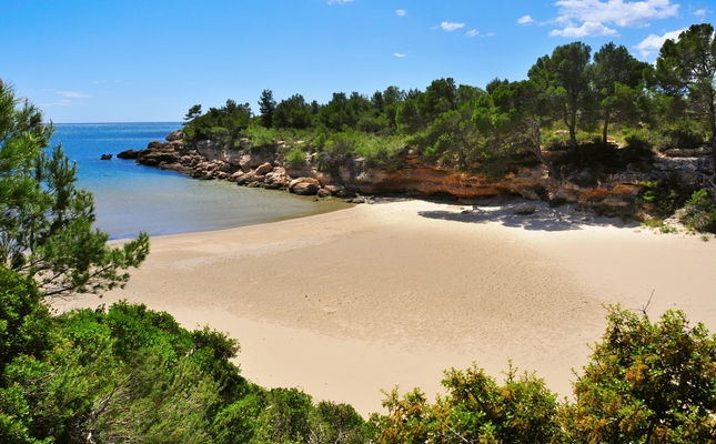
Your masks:
M667 311L652 323L608 307L607 327L557 403L512 365L504 385L473 366L445 373L445 396L387 393L373 415L382 443L707 443L716 430L716 336Z

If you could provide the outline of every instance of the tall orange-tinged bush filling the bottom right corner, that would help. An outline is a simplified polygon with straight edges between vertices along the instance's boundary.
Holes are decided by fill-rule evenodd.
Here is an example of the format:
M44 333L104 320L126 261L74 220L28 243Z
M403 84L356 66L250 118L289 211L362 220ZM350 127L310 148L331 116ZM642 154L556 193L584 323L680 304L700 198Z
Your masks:
M716 430L716 339L684 313L609 307L603 341L561 412L563 442L706 443Z

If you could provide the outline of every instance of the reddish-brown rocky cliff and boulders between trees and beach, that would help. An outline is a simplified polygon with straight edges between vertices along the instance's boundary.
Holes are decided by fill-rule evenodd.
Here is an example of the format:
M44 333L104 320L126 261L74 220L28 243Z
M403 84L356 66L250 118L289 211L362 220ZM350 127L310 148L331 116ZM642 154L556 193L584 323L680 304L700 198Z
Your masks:
M714 170L710 152L704 151L656 158L646 168L644 164L629 165L602 178L595 178L588 171L576 171L562 181L549 178L541 164L502 178L490 178L426 165L415 155L404 157L401 168L366 168L363 160L350 159L332 171L319 171L311 157L296 168L288 165L283 154L273 148L244 144L228 149L210 141L190 145L172 134L168 138L170 142L152 142L137 152L137 161L196 179L229 180L246 186L286 189L298 194L322 196L404 193L476 199L518 195L531 200L563 199L612 213L635 213L644 181L662 180L677 172L685 181L698 184L703 172Z

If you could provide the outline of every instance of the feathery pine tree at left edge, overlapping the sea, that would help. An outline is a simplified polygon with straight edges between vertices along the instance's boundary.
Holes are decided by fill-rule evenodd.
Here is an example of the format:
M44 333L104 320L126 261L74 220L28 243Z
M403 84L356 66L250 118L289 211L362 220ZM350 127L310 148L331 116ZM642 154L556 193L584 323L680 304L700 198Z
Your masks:
M61 145L47 151L52 131L0 81L0 268L34 279L44 296L123 286L125 270L147 258L149 236L108 246L92 226L92 194L75 186L77 165Z

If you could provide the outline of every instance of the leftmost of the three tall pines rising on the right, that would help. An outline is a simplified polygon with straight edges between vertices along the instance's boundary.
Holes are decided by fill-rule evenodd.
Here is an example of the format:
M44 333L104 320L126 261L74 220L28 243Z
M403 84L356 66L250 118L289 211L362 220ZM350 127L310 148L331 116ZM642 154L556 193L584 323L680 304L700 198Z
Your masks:
M569 130L569 144L577 148L579 114L589 105L589 78L587 65L592 48L573 42L555 48L552 56L544 56L530 69L527 75L552 97L556 112Z

